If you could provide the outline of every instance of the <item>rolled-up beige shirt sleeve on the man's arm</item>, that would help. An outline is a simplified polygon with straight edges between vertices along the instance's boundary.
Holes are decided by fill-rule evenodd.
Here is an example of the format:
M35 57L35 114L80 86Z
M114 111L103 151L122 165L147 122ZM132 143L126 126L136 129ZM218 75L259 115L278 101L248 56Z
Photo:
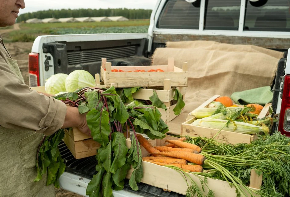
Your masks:
M67 106L22 83L0 56L0 125L51 135L64 124Z

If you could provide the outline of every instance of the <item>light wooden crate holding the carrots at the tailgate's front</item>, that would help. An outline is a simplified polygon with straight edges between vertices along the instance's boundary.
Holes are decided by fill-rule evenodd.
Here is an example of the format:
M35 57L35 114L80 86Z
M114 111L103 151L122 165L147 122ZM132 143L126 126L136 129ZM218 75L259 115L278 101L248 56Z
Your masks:
M166 139L179 139L172 136L166 136L162 140L149 140L149 142L153 146L162 146L165 144ZM131 140L130 138L126 139L127 146L131 146ZM142 157L149 156L149 153L141 147L142 151ZM142 161L142 167L143 167L143 178L141 179L142 183L149 184L158 188L162 188L166 191L172 191L179 194L186 194L186 190L188 188L187 183L190 184L190 180L187 178L187 183L184 180L184 177L176 170L173 170L168 167L159 166L153 163L149 163L146 161ZM127 179L129 179L132 175L133 169L131 168L127 173ZM202 176L194 175L188 173L188 175L193 178L193 180L196 182L196 184L201 189L201 184L199 177ZM215 193L215 197L233 197L236 196L236 188L229 185L226 181L221 180L215 180L212 178L207 178L207 185L213 192ZM255 173L251 173L251 179L250 179L250 186L254 189L259 189L262 185L262 175L258 177L258 175ZM202 189L201 189L202 190ZM207 194L208 189L205 187L205 194Z

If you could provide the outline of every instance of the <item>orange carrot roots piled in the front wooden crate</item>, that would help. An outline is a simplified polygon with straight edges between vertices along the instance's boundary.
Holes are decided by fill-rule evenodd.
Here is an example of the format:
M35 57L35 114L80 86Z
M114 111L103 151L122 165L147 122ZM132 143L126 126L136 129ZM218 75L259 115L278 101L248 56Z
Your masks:
M153 147L141 134L137 134L137 139L146 151L152 155L143 157L142 160L160 166L176 166L190 172L203 172L203 167L201 165L204 165L206 158L199 154L201 152L199 146L184 142L186 138L166 140L168 144L155 147ZM190 165L188 162L194 164Z

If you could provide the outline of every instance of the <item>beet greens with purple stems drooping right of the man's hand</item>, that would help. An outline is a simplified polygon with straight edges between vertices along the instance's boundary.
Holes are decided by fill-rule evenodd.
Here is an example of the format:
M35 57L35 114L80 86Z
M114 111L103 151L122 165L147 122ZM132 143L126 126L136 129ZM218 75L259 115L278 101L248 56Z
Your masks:
M109 197L113 189L122 190L131 166L134 170L129 184L133 190L138 190L137 183L141 181L143 170L136 133L147 134L151 139L162 139L168 131L156 107L144 106L137 101L125 106L114 87L107 90L83 88L55 98L78 107L79 113L86 113L91 135L101 144L96 156L97 174L88 184L86 195ZM131 147L128 148L126 138L130 131L133 134Z

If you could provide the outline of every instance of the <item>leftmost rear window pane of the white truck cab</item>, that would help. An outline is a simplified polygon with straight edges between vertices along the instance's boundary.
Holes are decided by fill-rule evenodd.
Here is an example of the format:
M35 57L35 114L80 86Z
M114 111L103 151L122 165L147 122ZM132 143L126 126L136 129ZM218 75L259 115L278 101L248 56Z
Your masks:
M158 19L157 27L161 29L198 29L200 15L199 3L185 0L167 1Z

